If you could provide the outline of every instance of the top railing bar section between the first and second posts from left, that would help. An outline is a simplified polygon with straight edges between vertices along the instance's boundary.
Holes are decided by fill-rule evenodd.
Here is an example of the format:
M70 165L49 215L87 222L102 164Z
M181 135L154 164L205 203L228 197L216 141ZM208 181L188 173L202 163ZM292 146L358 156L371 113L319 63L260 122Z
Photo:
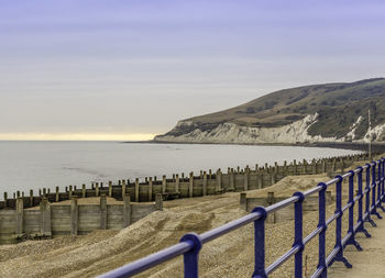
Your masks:
M231 221L222 226L216 227L211 231L205 232L200 235L200 240L202 243L207 243L210 242L223 234L227 234L240 226L244 226L255 220L258 220L262 216L262 214L260 212L254 212L254 213L250 213L241 219Z

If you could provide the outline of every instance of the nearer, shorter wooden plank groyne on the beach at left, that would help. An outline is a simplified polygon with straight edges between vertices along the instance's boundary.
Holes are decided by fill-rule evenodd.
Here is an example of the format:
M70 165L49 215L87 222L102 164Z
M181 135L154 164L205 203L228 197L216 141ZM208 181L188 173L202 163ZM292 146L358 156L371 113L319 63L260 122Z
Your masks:
M121 230L155 210L162 210L162 202L160 194L155 203L131 203L130 196L125 194L122 204L108 204L105 194L99 204L78 204L77 197L72 198L70 204L53 204L43 197L38 208L25 209L23 199L19 198L15 210L0 210L0 244L81 235L97 229Z

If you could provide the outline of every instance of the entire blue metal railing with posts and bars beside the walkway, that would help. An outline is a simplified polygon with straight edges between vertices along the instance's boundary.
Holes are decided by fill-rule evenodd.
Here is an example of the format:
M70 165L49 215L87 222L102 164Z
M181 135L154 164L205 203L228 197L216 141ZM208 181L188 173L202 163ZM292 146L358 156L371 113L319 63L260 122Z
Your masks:
M365 171L366 186L363 189L363 174ZM354 177L356 176L356 193L354 193ZM349 199L344 207L342 207L342 182L349 180ZM202 234L188 233L185 234L180 242L161 252L152 254L147 257L122 266L118 269L101 275L100 278L118 278L118 277L131 277L147 270L154 266L157 266L164 262L183 255L185 278L198 277L198 257L199 252L204 244L224 235L233 230L244 226L251 222L254 222L254 273L253 278L264 278L271 273L277 269L286 260L294 256L295 258L295 277L302 277L302 253L305 246L314 237L318 235L319 251L318 251L318 266L317 270L312 274L311 278L327 277L328 268L334 262L342 262L348 268L352 267L348 259L343 256L343 249L348 245L353 245L358 251L362 251L360 244L355 241L356 233L364 233L366 237L371 237L370 233L365 230L364 223L369 222L375 226L372 215L382 219L377 209L385 211L382 205L385 202L384 192L385 180L385 158L377 162L372 162L365 166L358 167L355 170L350 170L344 175L339 175L334 179L328 182L321 182L317 187L305 191L295 192L293 197L283 200L278 203L270 205L267 208L256 207L250 214L231 221L222 226L213 229ZM326 219L326 190L336 185L336 211L329 219ZM318 193L318 212L319 222L317 229L312 231L305 238L302 237L304 227L304 200L311 194ZM372 194L372 199L371 199ZM365 199L365 207L363 201ZM358 220L354 223L354 205L359 203ZM280 210L289 204L294 203L294 222L295 222L295 235L294 244L292 248L279 257L272 265L265 267L265 220L270 213ZM365 210L363 212L363 210ZM349 229L348 233L342 237L342 215L349 212ZM330 223L336 221L336 245L333 251L326 254L326 231Z

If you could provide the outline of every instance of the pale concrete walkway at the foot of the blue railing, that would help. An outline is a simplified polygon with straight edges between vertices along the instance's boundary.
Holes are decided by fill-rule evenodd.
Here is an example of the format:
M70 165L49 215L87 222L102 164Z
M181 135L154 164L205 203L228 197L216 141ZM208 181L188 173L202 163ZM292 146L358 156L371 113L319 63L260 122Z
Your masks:
M385 216L384 213L381 213ZM331 278L385 278L385 219L373 216L377 227L365 223L365 227L372 235L366 238L362 233L356 235L356 241L363 248L358 252L352 246L346 246L344 256L353 268L345 268L342 263L334 263L328 271Z

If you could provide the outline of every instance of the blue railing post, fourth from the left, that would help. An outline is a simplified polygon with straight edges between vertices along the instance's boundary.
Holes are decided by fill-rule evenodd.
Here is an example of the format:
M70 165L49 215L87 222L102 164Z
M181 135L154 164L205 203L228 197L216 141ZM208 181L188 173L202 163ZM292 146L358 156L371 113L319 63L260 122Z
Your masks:
M324 192L328 186L323 182L318 185L322 187L321 191L318 192L318 229L322 229L318 236L318 266L317 273L320 274L319 277L327 278L328 277L328 266L327 266L327 257L326 257L326 232L327 232L327 223L326 223L326 198Z

